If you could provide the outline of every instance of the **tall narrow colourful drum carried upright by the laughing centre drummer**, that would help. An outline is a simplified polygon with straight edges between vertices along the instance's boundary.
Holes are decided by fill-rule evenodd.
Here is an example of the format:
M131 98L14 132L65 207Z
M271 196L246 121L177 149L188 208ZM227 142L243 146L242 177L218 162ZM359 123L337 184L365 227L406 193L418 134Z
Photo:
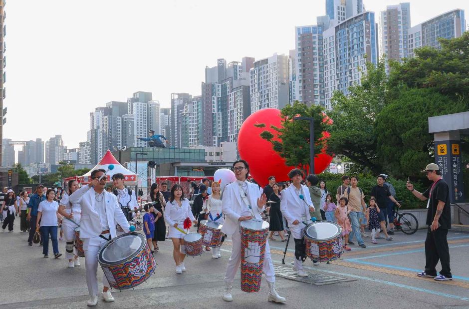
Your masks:
M241 291L259 292L269 224L263 220L245 220L241 232Z

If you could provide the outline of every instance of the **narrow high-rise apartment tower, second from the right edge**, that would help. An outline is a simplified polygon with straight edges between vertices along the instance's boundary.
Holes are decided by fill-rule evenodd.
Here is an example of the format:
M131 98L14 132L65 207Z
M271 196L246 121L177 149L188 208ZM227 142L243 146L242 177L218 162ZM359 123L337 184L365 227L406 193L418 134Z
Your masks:
M409 56L410 3L388 5L379 15L379 55L401 61ZM386 73L389 65L386 63Z

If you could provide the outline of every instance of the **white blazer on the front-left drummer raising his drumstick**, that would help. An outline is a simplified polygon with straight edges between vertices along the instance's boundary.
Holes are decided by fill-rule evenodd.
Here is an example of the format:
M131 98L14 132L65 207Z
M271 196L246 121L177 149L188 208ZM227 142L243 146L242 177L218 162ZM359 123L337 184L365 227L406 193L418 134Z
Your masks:
M94 189L86 185L73 192L68 198L70 203L81 205L80 238L99 236L102 232L94 193ZM117 237L116 223L118 223L125 232L129 232L130 225L117 203L117 197L112 193L104 191L103 198L111 238Z

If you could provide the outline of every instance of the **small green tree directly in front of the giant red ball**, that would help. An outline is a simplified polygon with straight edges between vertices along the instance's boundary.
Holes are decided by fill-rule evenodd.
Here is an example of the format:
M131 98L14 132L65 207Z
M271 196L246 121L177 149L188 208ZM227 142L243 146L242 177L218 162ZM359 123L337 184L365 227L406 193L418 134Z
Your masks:
M317 105L308 107L295 101L293 105L286 105L281 110L280 116L282 128L271 126L276 134L263 131L260 136L272 144L273 150L285 159L287 165L299 166L305 173L308 173L306 166L309 166L310 162L309 122L305 120L293 121L293 118L296 116L314 118L314 153L317 154L322 150L320 139L323 137L322 132L325 129L322 110ZM262 127L265 124L257 126Z

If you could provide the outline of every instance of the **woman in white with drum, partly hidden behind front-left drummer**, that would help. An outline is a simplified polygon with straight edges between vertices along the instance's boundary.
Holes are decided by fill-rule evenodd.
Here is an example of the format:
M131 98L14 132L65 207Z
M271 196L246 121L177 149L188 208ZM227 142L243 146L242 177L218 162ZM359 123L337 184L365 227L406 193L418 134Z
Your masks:
M78 181L70 180L68 182L68 194L64 193L62 195L58 209L58 213L63 216L62 230L66 242L65 257L68 259L68 268L80 266L80 259L73 244L75 242L75 228L80 226L81 205L71 204L68 200L69 195L78 190L78 188Z

